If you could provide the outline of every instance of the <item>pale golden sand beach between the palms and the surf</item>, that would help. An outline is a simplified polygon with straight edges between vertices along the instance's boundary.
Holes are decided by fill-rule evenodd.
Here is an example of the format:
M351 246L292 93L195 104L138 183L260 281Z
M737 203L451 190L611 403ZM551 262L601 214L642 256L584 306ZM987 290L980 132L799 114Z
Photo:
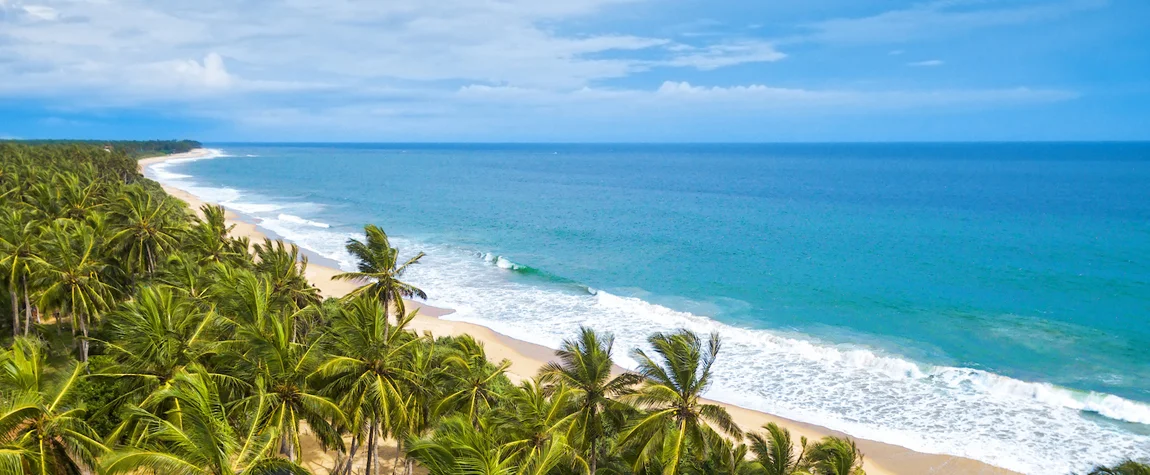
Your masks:
M182 154L141 159L138 161L138 169L143 174L145 168L152 164L169 160L204 158L207 153L207 150L199 148ZM161 186L168 194L185 201L193 210L198 212L199 207L205 204L205 201L186 191L164 184L161 184ZM244 221L238 214L230 209L227 210L225 217L229 224L235 224L235 229L232 230L233 236L246 236L253 243L262 242L266 237L268 237L268 232L261 230L256 223ZM325 266L323 263L309 262L305 275L307 275L312 283L319 288L325 297L342 297L356 288L354 283L331 279L331 276L342 271L343 270L339 270L338 268ZM518 383L519 381L531 378L537 373L538 368L550 361L553 357L552 348L529 342L518 340L498 334L483 325L439 319L439 316L452 313L453 311L451 309L437 308L415 301L409 302L408 305L411 305L409 308L419 309L419 314L412 321L409 327L411 329L420 334L431 332L435 336L458 336L462 334L471 335L476 340L484 344L488 358L492 361L503 359L512 361L512 366L508 369L508 377L513 382ZM828 435L846 436L843 432L825 427L792 421L731 404L714 403L726 407L736 423L747 431L759 430L761 426L768 422L775 422L790 429L795 438L806 437L811 440L816 440ZM851 438L857 442L859 449L865 454L865 469L869 475L1015 473L1005 468L995 467L986 462L957 455L930 454L882 442L868 440L858 437Z

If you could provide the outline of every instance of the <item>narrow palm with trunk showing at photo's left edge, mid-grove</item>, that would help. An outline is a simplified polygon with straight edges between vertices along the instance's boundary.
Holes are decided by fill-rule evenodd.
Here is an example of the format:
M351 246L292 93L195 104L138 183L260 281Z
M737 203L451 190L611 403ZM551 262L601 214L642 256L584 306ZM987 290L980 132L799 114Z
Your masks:
M32 305L28 292L28 281L41 263L36 254L40 223L23 210L5 213L0 219L0 269L5 270L8 296L12 298L13 336L20 334L20 299L24 297L24 335L32 325Z

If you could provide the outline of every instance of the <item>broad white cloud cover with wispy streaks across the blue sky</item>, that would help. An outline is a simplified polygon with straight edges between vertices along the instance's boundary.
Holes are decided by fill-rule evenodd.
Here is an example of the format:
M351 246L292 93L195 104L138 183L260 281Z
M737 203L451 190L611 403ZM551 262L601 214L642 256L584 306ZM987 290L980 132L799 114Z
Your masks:
M787 54L779 41L745 31L688 39L577 32L578 22L629 1L639 0L0 0L0 98L186 110L260 130L352 128L370 138L373 130L417 133L452 121L454 130L489 130L543 118L829 115L1074 97L1041 89L660 84L711 81L718 75L707 71ZM913 15L831 21L812 26L812 38L871 38L882 26L907 38L921 29L904 23L931 16L987 23L961 20L981 8L967 7L928 3ZM612 81L638 72L630 83L643 87Z

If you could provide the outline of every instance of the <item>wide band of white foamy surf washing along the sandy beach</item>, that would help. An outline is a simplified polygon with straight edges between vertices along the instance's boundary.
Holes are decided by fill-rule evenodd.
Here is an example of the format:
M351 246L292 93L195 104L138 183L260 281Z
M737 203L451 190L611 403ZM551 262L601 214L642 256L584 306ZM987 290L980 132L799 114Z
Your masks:
M183 181L191 186L185 190L201 198L230 198L216 201L236 209L238 204L262 220L261 227L352 269L344 243L361 237L354 228L282 212L298 204L259 202L236 190L197 186L174 175L164 179ZM431 296L432 305L457 311L446 319L513 338L557 347L580 325L589 325L613 332L616 361L634 367L626 350L645 346L644 338L653 331L716 331L723 350L708 396L722 401L1027 474L1082 472L1092 463L1150 457L1150 436L1084 414L1150 423L1150 406L1143 403L977 369L931 367L800 335L736 328L601 290L576 292L508 279L507 269L520 265L505 256L401 237L392 243L409 254L428 253L407 278Z

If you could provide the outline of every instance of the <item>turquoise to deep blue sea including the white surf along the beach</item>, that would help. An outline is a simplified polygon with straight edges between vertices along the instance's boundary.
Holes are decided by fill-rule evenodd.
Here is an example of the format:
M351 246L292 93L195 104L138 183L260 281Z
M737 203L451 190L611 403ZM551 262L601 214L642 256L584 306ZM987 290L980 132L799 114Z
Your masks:
M1150 457L1150 144L213 148L147 174L345 268L377 223L448 319L718 331L716 399L1025 473Z

